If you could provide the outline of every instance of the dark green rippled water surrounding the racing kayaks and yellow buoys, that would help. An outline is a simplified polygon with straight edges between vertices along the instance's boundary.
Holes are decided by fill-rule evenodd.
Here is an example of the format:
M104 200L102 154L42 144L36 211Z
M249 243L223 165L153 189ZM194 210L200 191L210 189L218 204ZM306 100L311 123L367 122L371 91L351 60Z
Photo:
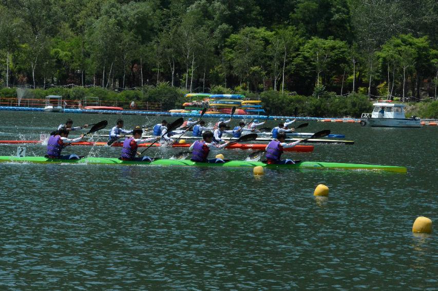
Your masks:
M34 140L66 118L112 125L120 115L0 117L0 140ZM161 120L123 119L127 127ZM0 164L0 289L436 290L438 128L315 122L303 131L326 128L355 145L285 156L402 165L408 173L254 177L250 168ZM26 148L27 156L45 153ZM151 148L150 156L178 151ZM0 145L2 156L15 152ZM118 157L120 148L65 149L72 152ZM244 159L250 151L223 153ZM320 183L328 199L313 196ZM417 216L435 223L431 235L412 234Z

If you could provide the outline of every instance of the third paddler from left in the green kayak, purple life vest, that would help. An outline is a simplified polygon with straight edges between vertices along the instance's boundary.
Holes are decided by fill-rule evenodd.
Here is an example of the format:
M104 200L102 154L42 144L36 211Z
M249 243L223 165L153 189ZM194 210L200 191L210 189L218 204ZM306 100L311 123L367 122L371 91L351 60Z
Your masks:
M215 143L212 143L213 140L213 132L210 130L205 131L202 134L202 140L194 142L190 147L189 150L192 151L192 159L191 161L194 162L202 162L202 163L225 163L222 159L207 159L208 153L211 150L219 150L226 147L230 142L226 142L224 144L218 145Z

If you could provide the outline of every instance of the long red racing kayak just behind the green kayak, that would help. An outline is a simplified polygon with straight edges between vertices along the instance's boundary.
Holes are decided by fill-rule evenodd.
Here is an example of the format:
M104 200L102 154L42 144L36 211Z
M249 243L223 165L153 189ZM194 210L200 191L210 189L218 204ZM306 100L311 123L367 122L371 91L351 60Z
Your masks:
M40 141L0 141L0 144L40 144ZM78 142L72 143L71 145L82 145L82 146L105 146L106 142ZM111 146L121 147L123 145L122 142L115 142ZM150 143L139 144L139 147L147 147ZM189 147L192 144L172 144L172 147ZM159 144L156 143L153 146L167 146L167 144ZM232 144L230 146L225 147L226 149L253 149L253 150L263 150L265 149L266 144ZM299 152L312 152L313 146L308 145L296 145L291 148L285 148L284 151L299 151Z

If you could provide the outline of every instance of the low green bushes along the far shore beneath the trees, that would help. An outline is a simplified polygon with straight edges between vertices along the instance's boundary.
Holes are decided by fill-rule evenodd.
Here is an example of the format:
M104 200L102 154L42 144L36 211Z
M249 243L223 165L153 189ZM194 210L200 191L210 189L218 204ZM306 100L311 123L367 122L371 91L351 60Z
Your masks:
M136 103L160 103L162 110L181 108L182 103L188 100L184 98L187 91L181 88L172 87L168 83L160 83L158 86L144 86L136 90L125 90L115 92L101 87L74 87L62 88L54 87L49 89L26 89L22 96L22 102L26 99L44 100L47 95L62 95L67 101L82 101L86 96L98 97L100 101L111 104L121 102L128 109L128 104L132 101ZM295 93L281 93L269 90L260 93L249 91L232 91L223 87L214 87L212 92L215 94L236 93L243 94L252 100L261 100L266 114L291 116L294 114L295 107L298 107L299 116L307 117L327 117L340 118L351 117L360 118L361 113L371 112L372 104L377 100L369 100L367 95L355 93L345 96L338 96L333 92L321 96L303 96ZM16 88L0 89L2 98L17 98ZM399 98L394 102L403 103ZM415 115L422 119L438 119L438 101L432 99L422 102L404 102L406 105L406 117ZM118 104L119 105L119 104Z

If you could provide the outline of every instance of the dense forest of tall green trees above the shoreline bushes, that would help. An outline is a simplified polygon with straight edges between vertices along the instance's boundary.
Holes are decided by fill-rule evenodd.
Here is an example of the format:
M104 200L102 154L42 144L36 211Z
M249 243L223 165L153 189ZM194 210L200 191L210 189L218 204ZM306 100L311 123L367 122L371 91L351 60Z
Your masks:
M436 0L2 0L0 87L436 98Z

